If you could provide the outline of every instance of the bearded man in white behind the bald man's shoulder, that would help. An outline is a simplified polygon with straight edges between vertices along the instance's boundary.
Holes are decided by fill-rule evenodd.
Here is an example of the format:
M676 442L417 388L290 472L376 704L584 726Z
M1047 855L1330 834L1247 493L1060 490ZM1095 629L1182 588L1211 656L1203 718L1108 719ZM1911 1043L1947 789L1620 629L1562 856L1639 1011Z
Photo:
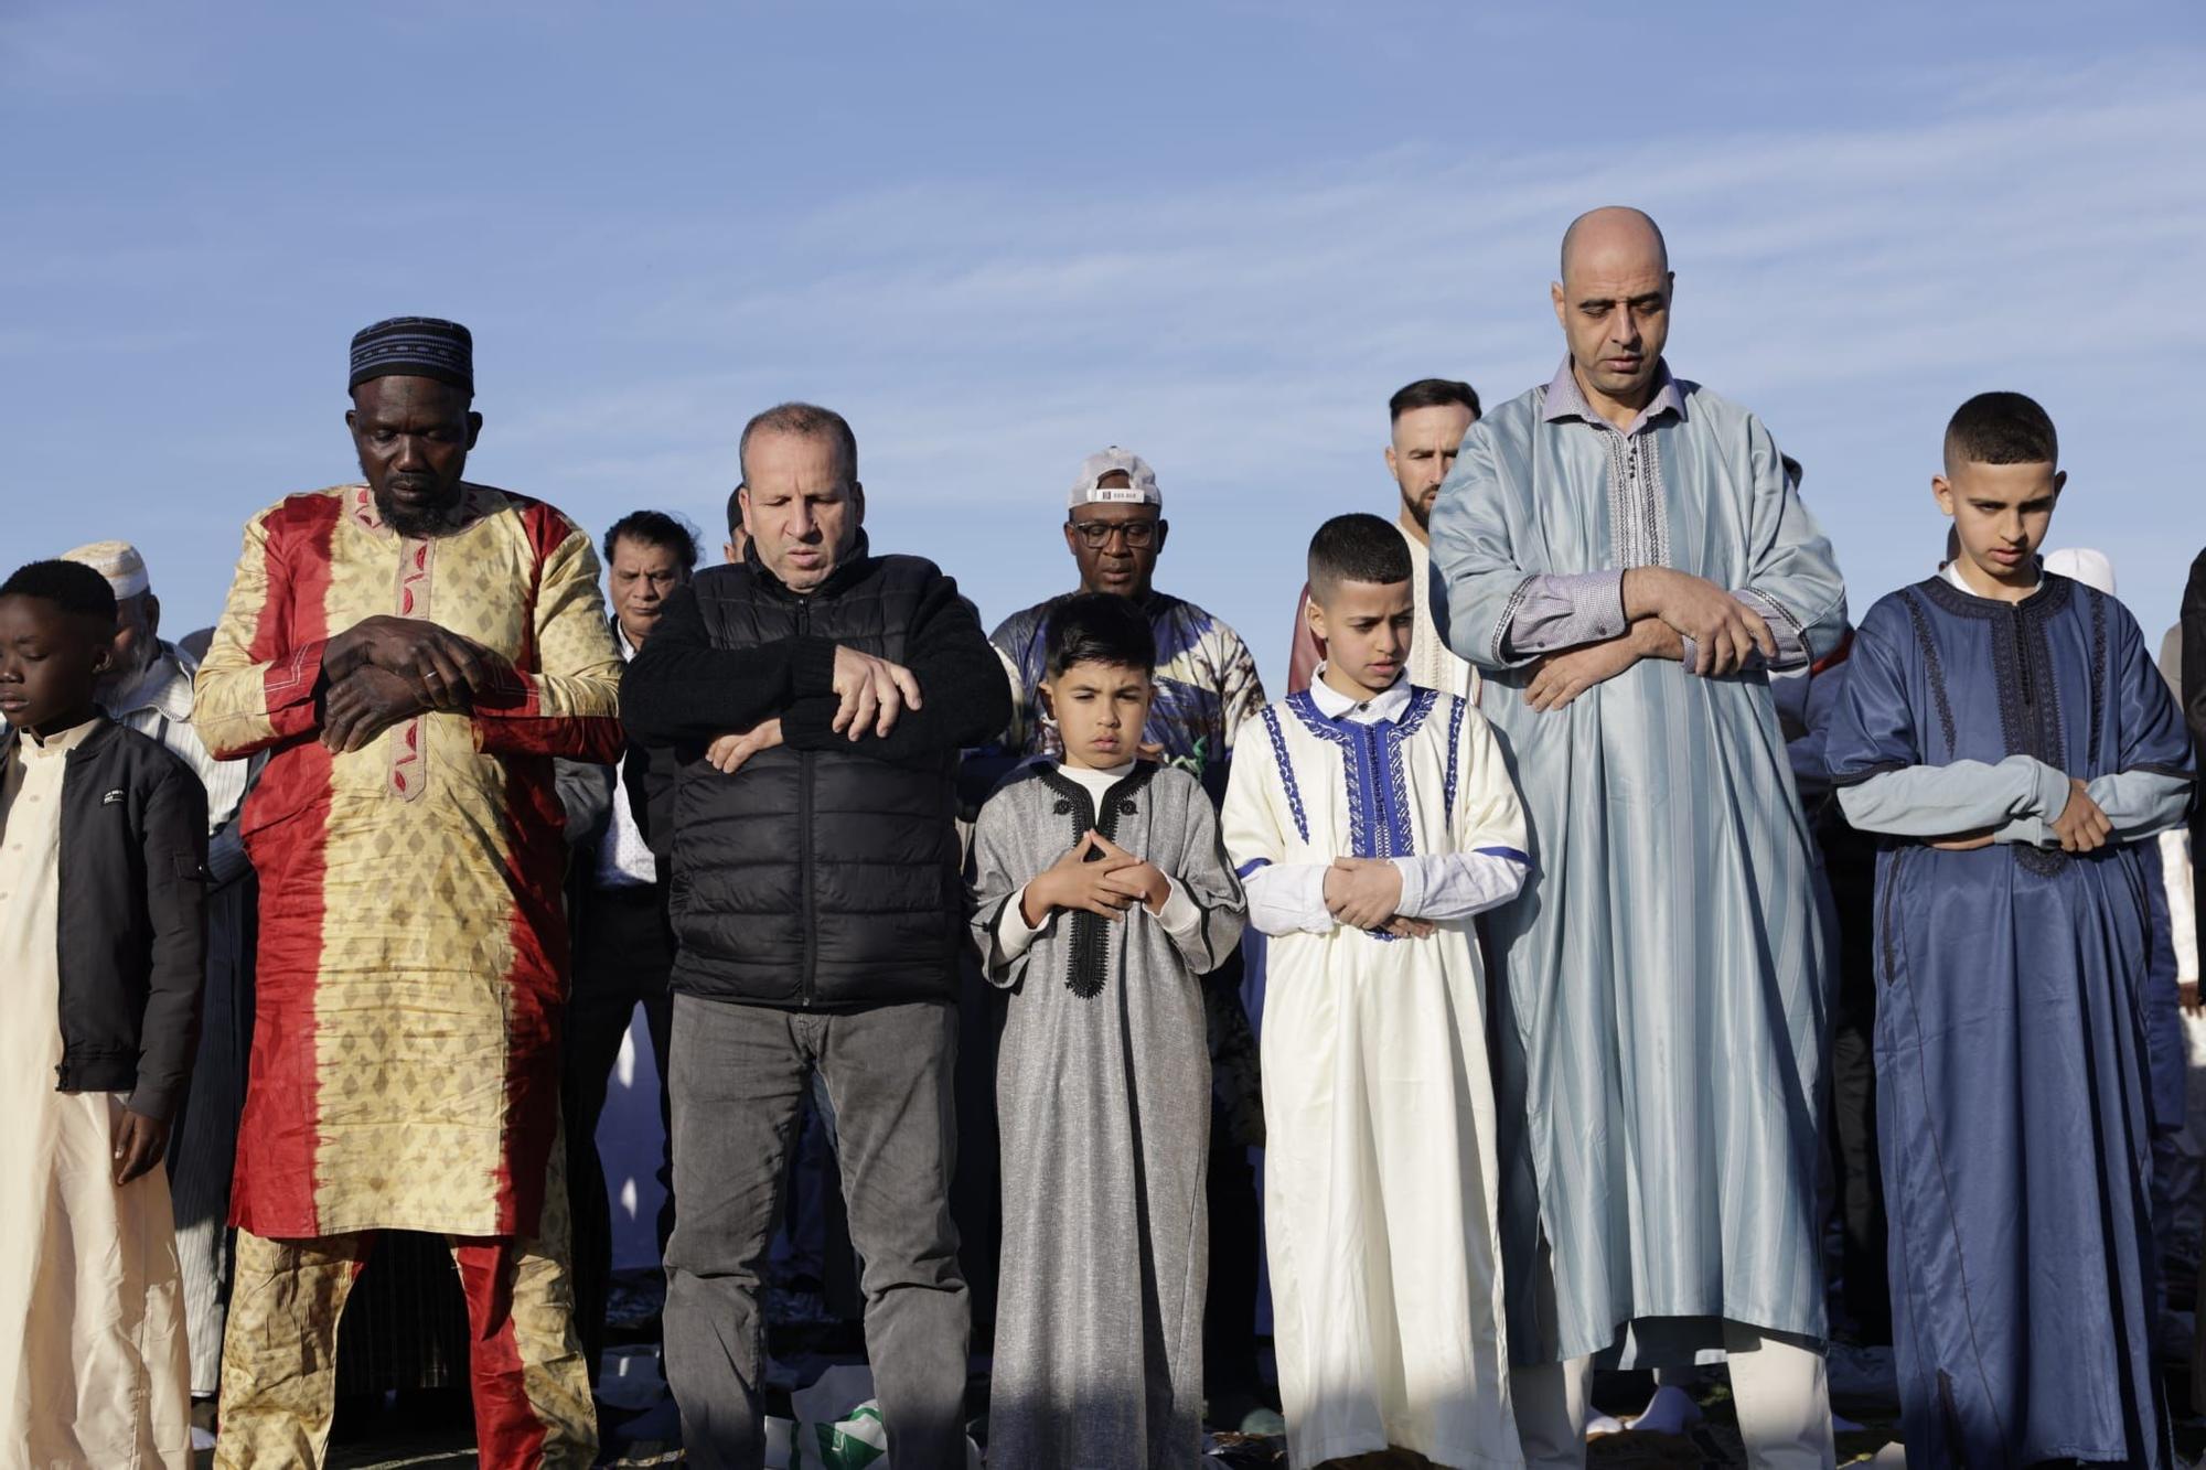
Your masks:
M1416 638L1410 642L1410 682L1438 689L1478 704L1478 669L1456 656L1432 625L1432 505L1441 499L1447 472L1456 468L1463 435L1478 422L1478 388L1454 377L1418 377L1388 400L1392 419L1385 468L1401 490L1394 525L1410 543L1410 585L1416 592ZM1310 589L1295 603L1295 636L1288 645L1286 693L1302 693L1326 662L1326 645L1317 640L1304 605Z

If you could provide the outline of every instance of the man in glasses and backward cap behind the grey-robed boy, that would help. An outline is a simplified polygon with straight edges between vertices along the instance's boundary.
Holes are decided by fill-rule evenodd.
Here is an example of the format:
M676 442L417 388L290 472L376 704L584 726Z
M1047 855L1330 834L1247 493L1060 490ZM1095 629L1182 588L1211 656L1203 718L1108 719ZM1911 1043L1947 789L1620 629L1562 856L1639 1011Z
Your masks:
M1227 759L1244 720L1264 709L1249 645L1216 616L1193 603L1156 592L1156 558L1169 534L1165 497L1156 470L1129 450L1112 446L1081 461L1065 514L1065 547L1081 569L1077 592L1107 592L1134 600L1156 633L1156 700L1143 728L1143 759L1178 766L1198 777L1222 801ZM999 753L979 755L975 768L990 773L1002 757L1057 757L1057 726L1041 709L1043 645L1050 616L1070 598L1063 594L1013 614L990 642L1010 664L1013 720ZM1204 976L1204 1009L1211 1029L1211 1119L1209 1216L1211 1285L1204 1311L1202 1377L1209 1421L1242 1428L1251 1415L1277 1424L1262 1410L1255 1373L1255 1183L1246 1150L1264 1141L1264 1104L1257 1082L1255 1037L1242 1006L1242 965L1235 954L1224 969Z

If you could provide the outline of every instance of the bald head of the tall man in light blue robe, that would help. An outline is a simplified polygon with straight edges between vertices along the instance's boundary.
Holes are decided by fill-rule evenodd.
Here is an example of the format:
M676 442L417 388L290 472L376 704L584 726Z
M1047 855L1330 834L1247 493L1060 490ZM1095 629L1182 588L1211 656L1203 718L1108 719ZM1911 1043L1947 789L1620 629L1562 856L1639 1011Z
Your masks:
M1579 214L1562 236L1555 320L1586 404L1626 428L1652 402L1670 340L1670 252L1639 210Z

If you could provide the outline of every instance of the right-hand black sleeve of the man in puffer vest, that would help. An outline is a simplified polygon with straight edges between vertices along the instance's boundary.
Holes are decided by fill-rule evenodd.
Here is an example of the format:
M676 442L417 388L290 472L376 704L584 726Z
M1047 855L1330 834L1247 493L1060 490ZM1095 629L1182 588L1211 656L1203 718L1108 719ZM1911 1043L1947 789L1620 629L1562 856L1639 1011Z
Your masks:
M935 766L1004 733L1010 722L1010 678L979 627L979 611L957 596L957 583L935 576L913 618L909 669L920 682L920 706L898 715L887 735L836 735L832 691L799 689L781 715L781 739L792 750L852 750L891 766Z

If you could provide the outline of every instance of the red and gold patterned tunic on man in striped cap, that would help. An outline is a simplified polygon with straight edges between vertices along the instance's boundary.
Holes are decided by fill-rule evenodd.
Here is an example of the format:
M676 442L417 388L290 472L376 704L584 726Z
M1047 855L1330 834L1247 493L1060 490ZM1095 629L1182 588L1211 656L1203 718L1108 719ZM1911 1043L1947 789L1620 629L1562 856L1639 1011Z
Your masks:
M428 539L384 525L366 486L260 512L199 669L207 748L274 750L240 819L260 967L229 1203L263 1238L538 1227L567 982L552 757L620 755L620 653L589 536L463 494L461 528ZM503 667L470 713L331 755L322 647L375 614Z

